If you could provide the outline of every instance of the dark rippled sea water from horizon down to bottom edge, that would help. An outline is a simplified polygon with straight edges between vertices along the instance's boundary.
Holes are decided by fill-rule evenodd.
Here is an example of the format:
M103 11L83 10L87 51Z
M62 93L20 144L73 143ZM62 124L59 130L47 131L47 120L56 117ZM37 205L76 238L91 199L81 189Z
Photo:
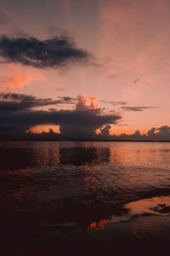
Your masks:
M169 251L170 143L1 142L0 160L2 255Z

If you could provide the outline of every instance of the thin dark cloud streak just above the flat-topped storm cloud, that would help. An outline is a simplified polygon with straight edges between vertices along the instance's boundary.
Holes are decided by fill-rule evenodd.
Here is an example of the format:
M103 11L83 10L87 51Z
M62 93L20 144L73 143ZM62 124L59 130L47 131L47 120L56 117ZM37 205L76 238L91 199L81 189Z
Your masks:
M57 104L74 104L71 97L58 97L57 100L37 98L17 93L0 94L0 111L19 111L28 108L36 108Z

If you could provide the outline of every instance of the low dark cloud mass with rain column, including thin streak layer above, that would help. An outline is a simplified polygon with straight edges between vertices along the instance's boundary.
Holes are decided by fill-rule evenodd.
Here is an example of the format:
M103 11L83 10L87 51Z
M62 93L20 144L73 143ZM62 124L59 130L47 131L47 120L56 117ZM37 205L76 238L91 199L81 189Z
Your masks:
M58 101L20 94L0 95L0 137L26 136L35 125L59 125L62 138L88 139L95 137L95 130L102 125L115 124L118 114L106 115L100 109L35 110L35 107L72 102L71 97L59 97ZM29 135L29 134L28 134ZM27 135L27 136L28 136Z

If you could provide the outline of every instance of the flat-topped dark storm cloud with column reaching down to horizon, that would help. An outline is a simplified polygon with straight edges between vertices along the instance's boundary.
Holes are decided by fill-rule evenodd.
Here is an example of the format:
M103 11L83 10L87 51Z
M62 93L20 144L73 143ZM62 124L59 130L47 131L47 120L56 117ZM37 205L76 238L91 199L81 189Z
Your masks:
M25 133L35 125L60 125L62 137L93 138L95 130L100 126L111 123L121 117L118 115L100 115L97 111L15 111L0 112L0 126L18 125Z

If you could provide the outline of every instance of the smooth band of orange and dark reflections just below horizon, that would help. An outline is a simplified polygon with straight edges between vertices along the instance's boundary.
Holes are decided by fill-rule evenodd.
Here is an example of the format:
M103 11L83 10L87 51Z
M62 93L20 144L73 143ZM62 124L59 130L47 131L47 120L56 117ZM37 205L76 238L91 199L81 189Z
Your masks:
M169 143L2 142L1 169L88 163L169 168ZM8 162L7 162L8 160ZM10 161L9 161L10 160Z

